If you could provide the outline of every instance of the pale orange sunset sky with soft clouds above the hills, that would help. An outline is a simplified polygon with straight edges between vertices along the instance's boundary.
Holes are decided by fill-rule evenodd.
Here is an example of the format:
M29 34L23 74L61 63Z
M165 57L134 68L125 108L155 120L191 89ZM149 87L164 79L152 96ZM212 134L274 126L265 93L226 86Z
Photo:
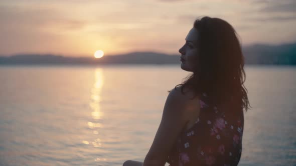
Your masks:
M1 0L0 56L179 54L203 16L229 22L242 45L296 41L296 0Z

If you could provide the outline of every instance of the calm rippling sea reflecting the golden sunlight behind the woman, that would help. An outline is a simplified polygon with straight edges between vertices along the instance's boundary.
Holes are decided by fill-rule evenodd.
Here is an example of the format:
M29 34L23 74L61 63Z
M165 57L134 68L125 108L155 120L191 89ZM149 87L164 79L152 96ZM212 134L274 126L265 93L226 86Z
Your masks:
M239 165L296 165L296 66L245 72ZM143 161L168 90L189 74L179 64L0 65L0 165Z

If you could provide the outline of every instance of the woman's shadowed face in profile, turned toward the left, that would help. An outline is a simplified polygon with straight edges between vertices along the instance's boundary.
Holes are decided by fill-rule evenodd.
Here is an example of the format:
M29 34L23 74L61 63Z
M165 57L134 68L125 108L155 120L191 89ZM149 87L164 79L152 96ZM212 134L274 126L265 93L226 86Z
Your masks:
M192 28L187 34L186 43L179 49L181 53L181 68L186 71L194 71L197 67L198 57L198 31Z

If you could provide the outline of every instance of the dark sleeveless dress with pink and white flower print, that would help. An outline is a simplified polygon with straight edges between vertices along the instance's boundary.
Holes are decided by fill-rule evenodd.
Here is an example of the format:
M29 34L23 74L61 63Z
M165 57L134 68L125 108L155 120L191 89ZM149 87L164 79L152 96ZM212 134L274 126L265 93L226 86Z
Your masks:
M243 111L227 115L207 101L206 93L200 103L198 119L181 133L167 162L170 166L237 165L242 151Z

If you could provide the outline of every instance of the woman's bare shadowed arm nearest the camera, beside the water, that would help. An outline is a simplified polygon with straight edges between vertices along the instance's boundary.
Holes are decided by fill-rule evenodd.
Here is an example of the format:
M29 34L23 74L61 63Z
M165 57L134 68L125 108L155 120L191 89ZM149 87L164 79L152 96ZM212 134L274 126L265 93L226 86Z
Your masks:
M187 106L192 105L188 104L189 102L193 100L183 95L181 90L172 89L164 106L161 123L144 161L127 160L123 166L164 166L170 150L192 115L193 107Z

